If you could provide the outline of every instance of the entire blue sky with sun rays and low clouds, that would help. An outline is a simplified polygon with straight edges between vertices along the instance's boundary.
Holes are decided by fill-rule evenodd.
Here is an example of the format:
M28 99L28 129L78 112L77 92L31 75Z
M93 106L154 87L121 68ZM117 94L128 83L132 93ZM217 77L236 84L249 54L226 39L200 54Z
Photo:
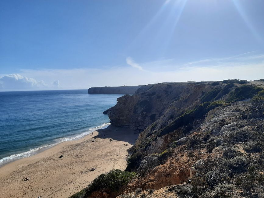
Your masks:
M2 0L0 89L264 78L263 8L262 0Z

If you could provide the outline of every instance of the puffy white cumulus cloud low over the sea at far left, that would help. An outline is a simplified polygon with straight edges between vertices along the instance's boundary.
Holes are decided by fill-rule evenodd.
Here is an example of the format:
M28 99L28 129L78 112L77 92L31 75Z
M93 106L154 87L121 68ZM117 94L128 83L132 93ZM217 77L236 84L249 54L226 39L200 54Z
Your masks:
M1 90L30 90L40 89L47 85L43 80L37 81L33 78L27 78L20 74L9 74L0 77Z

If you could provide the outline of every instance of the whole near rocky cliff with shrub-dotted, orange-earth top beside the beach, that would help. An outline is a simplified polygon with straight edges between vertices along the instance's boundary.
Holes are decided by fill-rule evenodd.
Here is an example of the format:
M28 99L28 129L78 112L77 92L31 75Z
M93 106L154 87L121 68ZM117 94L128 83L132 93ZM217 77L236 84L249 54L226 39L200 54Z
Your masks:
M146 85L106 113L140 132L119 198L264 196L264 80Z

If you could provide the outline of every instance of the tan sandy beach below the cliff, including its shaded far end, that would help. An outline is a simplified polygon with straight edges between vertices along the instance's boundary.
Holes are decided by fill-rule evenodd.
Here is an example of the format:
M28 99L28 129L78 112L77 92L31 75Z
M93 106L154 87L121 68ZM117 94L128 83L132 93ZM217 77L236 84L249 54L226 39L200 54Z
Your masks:
M124 170L127 149L137 136L135 131L110 125L93 135L4 164L0 167L0 197L69 197L101 173ZM30 180L23 181L25 177Z

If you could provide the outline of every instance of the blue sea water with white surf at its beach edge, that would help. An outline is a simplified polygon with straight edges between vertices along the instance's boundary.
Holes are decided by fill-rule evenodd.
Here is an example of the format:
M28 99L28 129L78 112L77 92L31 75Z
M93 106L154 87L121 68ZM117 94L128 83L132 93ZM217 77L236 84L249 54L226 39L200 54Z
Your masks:
M119 94L88 90L0 92L0 165L109 124Z

